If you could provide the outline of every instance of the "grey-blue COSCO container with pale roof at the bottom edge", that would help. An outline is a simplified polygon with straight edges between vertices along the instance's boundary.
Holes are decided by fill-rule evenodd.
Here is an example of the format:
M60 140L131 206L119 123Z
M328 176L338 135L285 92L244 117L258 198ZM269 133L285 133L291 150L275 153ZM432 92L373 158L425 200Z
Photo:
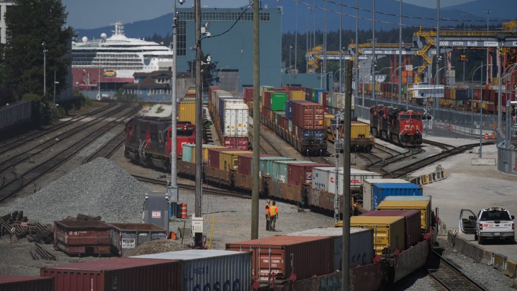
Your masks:
M186 250L133 258L178 260L179 290L247 290L252 284L251 252Z

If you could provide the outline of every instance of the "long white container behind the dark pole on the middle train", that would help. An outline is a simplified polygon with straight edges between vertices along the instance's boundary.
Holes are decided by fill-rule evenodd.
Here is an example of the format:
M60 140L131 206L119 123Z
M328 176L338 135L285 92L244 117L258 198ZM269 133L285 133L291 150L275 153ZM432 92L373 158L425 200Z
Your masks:
M316 188L316 190L324 190L330 193L336 193L336 169L334 167L318 167L313 169L317 169L317 172L320 173L320 171L327 172L326 178L327 182L325 186L322 185L314 185L313 182L313 188ZM323 176L323 173L321 173ZM382 178L382 175L376 172L371 171L365 171L365 170L358 170L351 168L350 169L350 188L354 191L359 191L362 186L362 182L364 179L380 179ZM313 180L314 181L314 180ZM343 167L339 168L339 193L343 193ZM318 186L318 187L315 187Z

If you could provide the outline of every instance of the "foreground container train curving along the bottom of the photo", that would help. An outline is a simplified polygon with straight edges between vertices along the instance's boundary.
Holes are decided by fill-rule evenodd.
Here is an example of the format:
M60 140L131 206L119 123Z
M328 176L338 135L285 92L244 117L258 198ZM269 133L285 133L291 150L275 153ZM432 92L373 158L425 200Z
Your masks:
M389 288L422 267L433 248L436 217L432 216L430 196L386 202L390 202L388 208L351 217L351 290ZM294 291L325 286L336 290L341 289L342 222L335 226L229 242L224 251L185 250L46 266L40 269L41 278L0 276L0 287L86 291L116 285L117 289L157 291ZM91 229L86 227L85 232ZM126 251L135 246L127 243ZM185 280L192 276L192 270L195 278ZM96 277L94 285L81 283L89 282L92 276Z

